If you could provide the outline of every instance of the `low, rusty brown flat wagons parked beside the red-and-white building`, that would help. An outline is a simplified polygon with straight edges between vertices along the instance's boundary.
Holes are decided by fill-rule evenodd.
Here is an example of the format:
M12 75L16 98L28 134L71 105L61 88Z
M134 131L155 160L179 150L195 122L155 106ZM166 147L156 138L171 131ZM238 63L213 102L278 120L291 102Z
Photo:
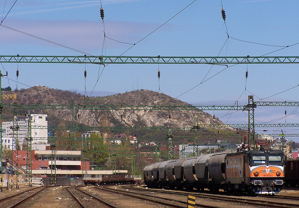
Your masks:
M88 174L83 178L85 185L103 185L103 184L134 184L132 175L116 173L116 174Z

